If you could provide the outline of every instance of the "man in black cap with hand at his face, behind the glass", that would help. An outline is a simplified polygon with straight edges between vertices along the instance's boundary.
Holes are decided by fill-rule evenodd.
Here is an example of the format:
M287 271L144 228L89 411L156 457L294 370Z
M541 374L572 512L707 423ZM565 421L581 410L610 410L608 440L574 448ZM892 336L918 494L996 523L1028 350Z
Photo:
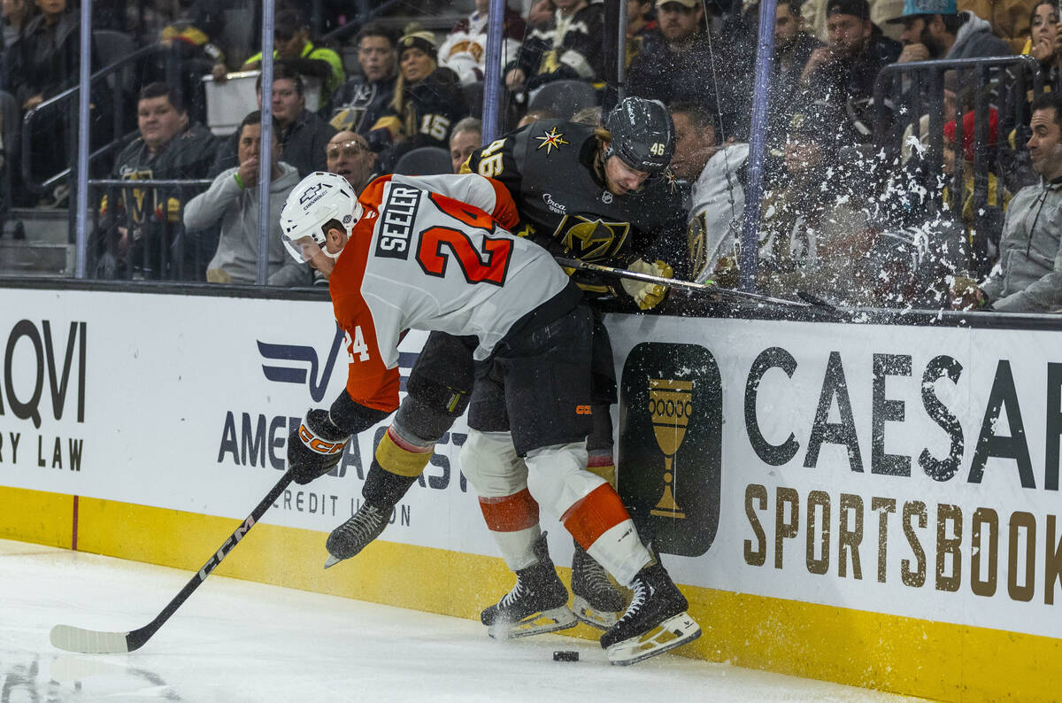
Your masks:
M886 65L878 42L874 49L873 27L867 0L829 0L826 5L829 45L816 49L801 74L802 88L796 96L805 115L821 114L813 103L833 107L830 123L842 130L836 135L837 147L857 140L846 119L852 101L874 95L874 82Z

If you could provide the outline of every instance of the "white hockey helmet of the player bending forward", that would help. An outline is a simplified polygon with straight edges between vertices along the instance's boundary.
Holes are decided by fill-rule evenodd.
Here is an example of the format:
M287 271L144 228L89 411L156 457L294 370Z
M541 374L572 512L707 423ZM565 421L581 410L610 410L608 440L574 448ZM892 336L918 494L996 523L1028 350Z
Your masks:
M363 208L346 178L336 173L314 171L298 182L280 210L280 239L288 253L299 263L313 258L316 251L331 258L325 245L323 225L336 220L347 237L361 219Z

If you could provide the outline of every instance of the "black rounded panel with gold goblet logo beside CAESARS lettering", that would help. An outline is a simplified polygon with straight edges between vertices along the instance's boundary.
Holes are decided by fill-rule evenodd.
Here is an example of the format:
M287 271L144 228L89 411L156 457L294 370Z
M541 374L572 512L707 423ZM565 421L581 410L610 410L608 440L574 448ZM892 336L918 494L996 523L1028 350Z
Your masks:
M697 344L635 346L620 381L619 493L660 551L699 556L719 526L722 382Z

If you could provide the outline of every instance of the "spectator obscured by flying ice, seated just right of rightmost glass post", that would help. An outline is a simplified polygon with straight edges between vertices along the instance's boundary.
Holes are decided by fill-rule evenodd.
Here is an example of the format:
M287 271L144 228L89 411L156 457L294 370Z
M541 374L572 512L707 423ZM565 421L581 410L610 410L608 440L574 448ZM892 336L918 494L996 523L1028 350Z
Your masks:
M836 112L794 113L786 142L788 183L764 199L759 286L775 294L807 291L869 305L873 280L859 262L871 247L867 216L828 159Z

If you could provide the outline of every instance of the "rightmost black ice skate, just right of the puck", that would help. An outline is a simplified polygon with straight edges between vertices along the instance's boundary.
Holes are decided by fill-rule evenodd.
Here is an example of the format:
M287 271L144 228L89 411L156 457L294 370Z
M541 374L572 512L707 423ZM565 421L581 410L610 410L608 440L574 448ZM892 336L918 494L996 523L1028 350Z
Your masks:
M610 663L634 664L701 636L700 625L686 613L686 597L660 563L638 571L631 588L634 596L623 617L601 635Z

